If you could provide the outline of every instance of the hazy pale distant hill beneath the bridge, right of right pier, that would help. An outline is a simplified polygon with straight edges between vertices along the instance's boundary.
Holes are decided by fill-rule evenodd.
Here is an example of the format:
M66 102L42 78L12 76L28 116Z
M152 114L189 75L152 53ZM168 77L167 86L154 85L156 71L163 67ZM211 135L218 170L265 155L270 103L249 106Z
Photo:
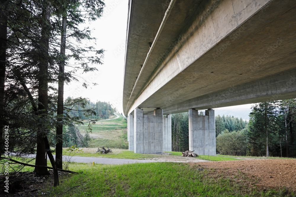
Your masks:
M249 120L249 114L252 111L248 108L228 108L228 109L219 109L215 108L215 115L222 116L223 114L226 116L234 116L236 118L242 118L244 120Z

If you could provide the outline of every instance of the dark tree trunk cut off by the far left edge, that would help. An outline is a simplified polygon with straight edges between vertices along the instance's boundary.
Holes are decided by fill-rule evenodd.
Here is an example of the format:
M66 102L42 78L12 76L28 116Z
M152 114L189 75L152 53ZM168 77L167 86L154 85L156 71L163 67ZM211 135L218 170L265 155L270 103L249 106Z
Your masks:
M7 0L1 0L1 7ZM7 48L7 16L4 10L0 11L0 155L4 152L3 130L4 130L4 87L6 68L6 48Z

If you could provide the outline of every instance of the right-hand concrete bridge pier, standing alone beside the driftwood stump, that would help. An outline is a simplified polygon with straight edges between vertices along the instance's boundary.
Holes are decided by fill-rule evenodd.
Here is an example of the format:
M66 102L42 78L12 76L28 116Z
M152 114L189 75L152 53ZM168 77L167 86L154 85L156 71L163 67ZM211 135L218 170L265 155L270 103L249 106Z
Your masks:
M189 150L198 155L216 155L215 113L209 109L205 115L189 110Z

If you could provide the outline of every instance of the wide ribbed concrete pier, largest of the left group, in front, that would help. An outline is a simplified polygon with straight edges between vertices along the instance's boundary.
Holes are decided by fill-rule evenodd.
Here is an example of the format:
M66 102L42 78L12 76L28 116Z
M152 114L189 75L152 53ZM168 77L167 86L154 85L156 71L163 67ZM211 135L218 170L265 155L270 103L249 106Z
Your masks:
M163 153L163 110L155 109L153 115L134 110L134 152Z

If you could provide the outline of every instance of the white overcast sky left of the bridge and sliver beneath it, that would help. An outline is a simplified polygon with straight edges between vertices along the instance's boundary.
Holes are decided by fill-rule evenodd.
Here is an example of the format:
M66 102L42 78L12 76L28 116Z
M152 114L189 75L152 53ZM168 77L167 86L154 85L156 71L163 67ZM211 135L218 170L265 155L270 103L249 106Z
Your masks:
M92 37L97 38L97 49L105 50L104 64L96 66L98 72L83 75L84 79L98 85L85 89L81 87L81 83L72 82L70 86L65 85L64 98L71 96L89 98L92 102L109 101L121 113L128 0L105 0L105 4L103 17L90 25L94 29ZM237 107L251 106L252 104Z

